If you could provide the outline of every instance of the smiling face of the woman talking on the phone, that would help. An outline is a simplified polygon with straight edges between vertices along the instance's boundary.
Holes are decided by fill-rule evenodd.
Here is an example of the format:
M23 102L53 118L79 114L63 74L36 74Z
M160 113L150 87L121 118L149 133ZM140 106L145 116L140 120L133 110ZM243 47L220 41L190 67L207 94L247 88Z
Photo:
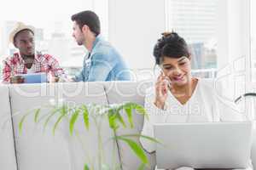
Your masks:
M165 75L170 78L173 86L181 87L191 80L190 59L187 57L163 57L160 67Z

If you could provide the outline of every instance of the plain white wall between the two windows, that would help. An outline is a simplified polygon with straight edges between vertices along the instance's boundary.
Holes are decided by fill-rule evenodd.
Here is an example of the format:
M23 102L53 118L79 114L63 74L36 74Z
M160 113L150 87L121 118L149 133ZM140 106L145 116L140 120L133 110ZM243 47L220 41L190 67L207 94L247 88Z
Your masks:
M164 0L109 0L108 40L132 69L153 68L154 43L166 30Z

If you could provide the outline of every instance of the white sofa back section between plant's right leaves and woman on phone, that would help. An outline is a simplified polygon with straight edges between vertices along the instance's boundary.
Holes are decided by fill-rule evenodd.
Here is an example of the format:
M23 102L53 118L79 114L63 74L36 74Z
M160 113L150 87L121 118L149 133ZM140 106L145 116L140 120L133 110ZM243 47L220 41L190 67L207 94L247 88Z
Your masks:
M125 102L135 102L139 105L144 105L145 90L152 86L153 82L105 82L103 83L108 103L111 104L122 104ZM127 117L125 122L127 122ZM123 134L138 134L143 129L143 116L138 114L136 111L133 112L134 128L122 128L120 127L117 131L117 135ZM133 138L138 144L139 139ZM129 146L123 142L119 142L119 156L122 162L123 170L137 169L141 165L141 161L134 155ZM148 154L148 161L150 166L147 169L154 169L155 166L155 155Z

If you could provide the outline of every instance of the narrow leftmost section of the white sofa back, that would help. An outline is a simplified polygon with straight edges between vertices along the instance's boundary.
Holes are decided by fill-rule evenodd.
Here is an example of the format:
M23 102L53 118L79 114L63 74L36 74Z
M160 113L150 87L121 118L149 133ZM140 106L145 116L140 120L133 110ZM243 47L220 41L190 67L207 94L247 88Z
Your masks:
M7 86L0 86L0 169L17 170Z

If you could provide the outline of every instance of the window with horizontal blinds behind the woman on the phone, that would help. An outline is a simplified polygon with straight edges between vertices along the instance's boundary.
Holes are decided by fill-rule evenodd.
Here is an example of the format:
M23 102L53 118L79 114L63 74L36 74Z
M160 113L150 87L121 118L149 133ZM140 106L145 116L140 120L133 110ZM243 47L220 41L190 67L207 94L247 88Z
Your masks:
M216 77L217 20L218 0L166 0L166 30L189 43L196 76Z

